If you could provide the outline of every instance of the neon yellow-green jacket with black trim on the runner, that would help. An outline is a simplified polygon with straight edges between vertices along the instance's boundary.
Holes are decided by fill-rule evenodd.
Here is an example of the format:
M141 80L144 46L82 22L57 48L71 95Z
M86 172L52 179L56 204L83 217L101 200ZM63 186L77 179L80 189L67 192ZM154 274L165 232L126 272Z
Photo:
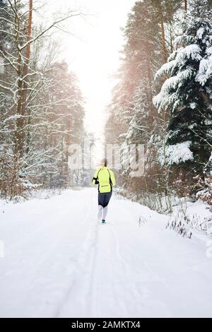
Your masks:
M112 191L112 186L116 184L114 174L108 167L102 167L97 170L93 176L93 184L98 184L100 193L109 193Z

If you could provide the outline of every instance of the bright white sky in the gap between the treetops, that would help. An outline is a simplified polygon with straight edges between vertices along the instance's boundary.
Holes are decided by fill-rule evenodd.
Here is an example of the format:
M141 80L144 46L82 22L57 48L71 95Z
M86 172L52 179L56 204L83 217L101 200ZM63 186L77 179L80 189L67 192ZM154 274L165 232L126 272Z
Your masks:
M119 51L124 43L120 28L125 26L134 2L45 0L49 16L57 11L66 12L68 8L89 14L85 18L71 18L66 24L66 29L76 37L61 32L61 58L69 63L79 78L86 99L86 129L100 141L106 119L105 107L110 102L114 85L112 74L119 67Z

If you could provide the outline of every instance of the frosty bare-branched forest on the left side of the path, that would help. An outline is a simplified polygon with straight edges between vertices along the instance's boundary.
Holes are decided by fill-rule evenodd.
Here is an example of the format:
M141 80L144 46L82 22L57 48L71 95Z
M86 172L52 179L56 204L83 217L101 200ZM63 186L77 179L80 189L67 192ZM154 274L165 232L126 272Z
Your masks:
M76 74L57 60L57 42L46 35L79 15L66 13L42 28L33 25L33 8L25 1L0 1L2 198L81 184L81 175L69 172L68 147L86 136L83 95Z

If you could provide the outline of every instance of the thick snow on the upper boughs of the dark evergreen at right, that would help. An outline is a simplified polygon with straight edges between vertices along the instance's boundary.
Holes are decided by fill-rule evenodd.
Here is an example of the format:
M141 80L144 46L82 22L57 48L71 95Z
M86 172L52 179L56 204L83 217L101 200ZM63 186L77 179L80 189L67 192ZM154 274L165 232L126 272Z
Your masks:
M196 33L197 39L201 39L203 33L204 28L199 28ZM180 36L176 39L176 42L183 40L184 37L185 36ZM196 40L196 42L198 42L198 40ZM206 48L204 57L202 57L201 54L201 47L196 43L185 47L179 47L170 55L167 63L163 64L163 66L157 71L155 79L165 74L171 76L163 83L160 93L153 97L153 104L158 108L159 113L166 107L171 107L173 110L177 109L180 105L180 98L178 93L176 93L176 89L183 86L186 82L192 81L192 78L194 78L196 82L204 86L211 78L211 45L208 45ZM196 68L189 66L190 60L199 62L199 69L197 71Z

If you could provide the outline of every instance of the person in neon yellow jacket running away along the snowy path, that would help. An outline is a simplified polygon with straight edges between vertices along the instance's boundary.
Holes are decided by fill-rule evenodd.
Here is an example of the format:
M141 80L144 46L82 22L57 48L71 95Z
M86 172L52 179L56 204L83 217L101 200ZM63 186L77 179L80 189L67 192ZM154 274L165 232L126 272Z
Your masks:
M112 196L112 186L116 184L112 170L107 167L107 160L102 162L102 167L93 176L93 184L98 184L98 220L105 224L107 206Z

